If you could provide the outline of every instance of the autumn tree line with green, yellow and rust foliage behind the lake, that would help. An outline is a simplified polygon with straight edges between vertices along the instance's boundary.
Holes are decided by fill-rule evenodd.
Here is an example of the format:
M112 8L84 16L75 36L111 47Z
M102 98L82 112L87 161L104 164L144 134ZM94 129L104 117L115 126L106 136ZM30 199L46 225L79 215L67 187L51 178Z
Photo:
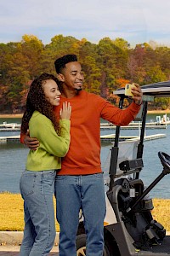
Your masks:
M43 72L56 75L54 61L66 54L76 54L81 62L84 90L114 104L112 91L129 82L144 85L170 79L170 48L154 42L131 48L123 38L102 38L93 44L59 34L42 44L36 36L24 35L20 42L0 44L0 113L22 113L31 81ZM150 108L170 108L170 100L161 98Z

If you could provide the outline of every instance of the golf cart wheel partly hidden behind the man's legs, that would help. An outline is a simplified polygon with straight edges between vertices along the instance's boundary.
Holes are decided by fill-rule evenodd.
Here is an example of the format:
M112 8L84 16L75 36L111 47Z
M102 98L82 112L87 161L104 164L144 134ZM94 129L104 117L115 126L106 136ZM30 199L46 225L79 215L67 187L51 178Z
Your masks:
M86 235L77 236L77 256L86 256ZM112 256L109 247L105 245L103 256Z

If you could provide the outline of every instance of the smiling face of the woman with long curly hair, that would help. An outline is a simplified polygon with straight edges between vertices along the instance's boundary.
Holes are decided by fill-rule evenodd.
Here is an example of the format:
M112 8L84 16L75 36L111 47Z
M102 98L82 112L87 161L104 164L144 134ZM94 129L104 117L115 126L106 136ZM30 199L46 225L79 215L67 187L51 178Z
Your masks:
M61 93L55 81L53 79L48 79L44 81L42 88L48 102L51 103L51 105L53 106L59 106L59 96Z

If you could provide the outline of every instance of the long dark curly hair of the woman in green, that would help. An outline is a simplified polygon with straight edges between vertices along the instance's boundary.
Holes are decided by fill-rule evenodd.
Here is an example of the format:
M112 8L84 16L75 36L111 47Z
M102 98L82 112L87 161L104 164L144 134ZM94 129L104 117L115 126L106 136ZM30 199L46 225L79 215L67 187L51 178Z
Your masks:
M59 86L58 79L54 77L54 75L48 73L42 73L42 75L40 75L37 79L34 79L31 83L26 99L26 111L21 122L21 133L26 134L26 131L29 128L31 115L35 110L37 110L52 121L55 131L59 134L59 122L54 114L53 106L46 99L42 88L42 85L45 84L49 79L54 80Z

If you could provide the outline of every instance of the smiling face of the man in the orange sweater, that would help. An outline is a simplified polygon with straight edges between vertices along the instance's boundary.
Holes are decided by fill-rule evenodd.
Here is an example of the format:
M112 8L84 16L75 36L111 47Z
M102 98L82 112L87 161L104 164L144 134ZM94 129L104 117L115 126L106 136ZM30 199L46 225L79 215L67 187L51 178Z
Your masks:
M62 73L59 74L59 80L66 85L68 90L82 90L84 76L80 63L77 61L67 63Z

